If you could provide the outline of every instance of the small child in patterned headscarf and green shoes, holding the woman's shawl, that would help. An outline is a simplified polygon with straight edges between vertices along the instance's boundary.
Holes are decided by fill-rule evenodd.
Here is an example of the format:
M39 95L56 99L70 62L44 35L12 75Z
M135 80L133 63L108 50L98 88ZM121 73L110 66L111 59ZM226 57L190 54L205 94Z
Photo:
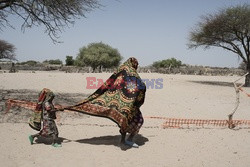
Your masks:
M54 97L54 93L49 89L44 88L40 92L36 111L30 119L29 125L33 129L39 130L39 121L41 120L43 127L39 133L29 136L30 144L33 144L35 137L44 136L53 138L52 146L61 147L61 144L57 143L58 129L54 121L56 119L56 109L52 103Z

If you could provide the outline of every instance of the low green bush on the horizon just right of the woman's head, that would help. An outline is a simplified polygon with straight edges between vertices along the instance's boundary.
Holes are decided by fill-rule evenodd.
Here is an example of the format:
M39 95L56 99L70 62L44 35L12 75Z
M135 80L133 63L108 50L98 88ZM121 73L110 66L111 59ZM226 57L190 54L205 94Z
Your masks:
M175 58L171 58L171 59L156 61L153 63L152 66L155 68L168 68L168 67L176 68L180 67L181 65L182 65L181 61L176 60Z

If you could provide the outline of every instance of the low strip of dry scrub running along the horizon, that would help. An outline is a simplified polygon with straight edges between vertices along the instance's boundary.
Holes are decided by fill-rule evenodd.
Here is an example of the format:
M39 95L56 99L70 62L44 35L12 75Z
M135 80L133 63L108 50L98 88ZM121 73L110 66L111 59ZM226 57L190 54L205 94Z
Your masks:
M13 70L13 68L15 70ZM1 63L0 69L5 72L12 71L18 72L20 70L29 71L64 71L65 73L92 73L91 67L77 67L77 66L65 66L65 65L51 65L46 63L40 63L36 65L27 64L14 64L14 63ZM112 73L115 68L102 68L97 72ZM183 65L180 67L168 67L168 68L155 68L152 66L139 67L139 73L162 73L162 74L183 74L183 75L243 75L245 71L240 68L221 68L221 67L208 67L208 66L191 66Z

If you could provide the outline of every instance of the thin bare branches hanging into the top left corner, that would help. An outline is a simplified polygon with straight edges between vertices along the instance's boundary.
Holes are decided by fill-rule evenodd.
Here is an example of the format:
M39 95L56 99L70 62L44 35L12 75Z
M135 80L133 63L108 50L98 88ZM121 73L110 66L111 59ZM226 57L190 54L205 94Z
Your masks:
M58 32L73 24L75 19L100 7L99 0L0 0L0 28L11 26L9 15L23 19L22 30L32 26L45 26L45 32L56 41Z

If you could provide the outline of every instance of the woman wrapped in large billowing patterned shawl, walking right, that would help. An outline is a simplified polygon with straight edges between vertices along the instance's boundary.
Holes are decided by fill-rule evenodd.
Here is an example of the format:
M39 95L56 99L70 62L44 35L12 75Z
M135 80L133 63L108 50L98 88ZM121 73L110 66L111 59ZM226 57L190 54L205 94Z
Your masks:
M138 147L132 140L143 124L140 107L144 103L146 86L137 67L136 58L129 58L92 95L66 109L111 119L120 127L121 143ZM130 134L127 140L126 133Z

